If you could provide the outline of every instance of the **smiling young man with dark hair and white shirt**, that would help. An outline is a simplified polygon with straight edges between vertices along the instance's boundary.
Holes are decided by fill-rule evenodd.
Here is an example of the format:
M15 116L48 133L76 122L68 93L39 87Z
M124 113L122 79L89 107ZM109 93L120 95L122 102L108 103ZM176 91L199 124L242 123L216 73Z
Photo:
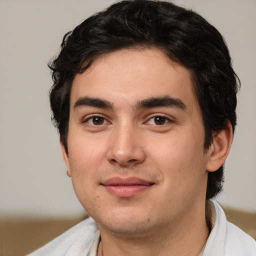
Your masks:
M256 255L217 202L239 80L219 32L164 1L111 5L49 64L67 175L89 218L30 255Z

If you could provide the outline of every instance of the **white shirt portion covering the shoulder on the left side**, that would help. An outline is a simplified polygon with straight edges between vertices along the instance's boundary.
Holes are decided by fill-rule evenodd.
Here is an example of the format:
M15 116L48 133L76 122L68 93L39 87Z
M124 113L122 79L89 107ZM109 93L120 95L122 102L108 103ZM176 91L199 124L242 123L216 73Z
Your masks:
M97 230L95 221L88 217L27 256L78 256L81 250L86 255Z

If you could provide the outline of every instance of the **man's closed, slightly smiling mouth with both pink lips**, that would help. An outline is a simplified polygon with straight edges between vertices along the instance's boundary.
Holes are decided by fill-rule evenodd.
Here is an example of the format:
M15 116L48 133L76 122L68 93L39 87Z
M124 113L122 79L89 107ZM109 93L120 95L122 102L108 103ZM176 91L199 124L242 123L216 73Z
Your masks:
M101 183L111 195L117 197L132 197L147 189L149 189L153 182L146 181L138 177L112 177Z

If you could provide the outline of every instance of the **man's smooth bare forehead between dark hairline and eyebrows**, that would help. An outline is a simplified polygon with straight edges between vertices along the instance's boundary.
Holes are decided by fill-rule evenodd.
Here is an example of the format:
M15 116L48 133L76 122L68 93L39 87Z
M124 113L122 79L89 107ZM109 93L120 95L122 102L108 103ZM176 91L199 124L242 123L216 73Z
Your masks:
M82 96L132 104L143 98L169 95L194 103L190 71L160 49L122 49L101 55L71 88L72 106Z

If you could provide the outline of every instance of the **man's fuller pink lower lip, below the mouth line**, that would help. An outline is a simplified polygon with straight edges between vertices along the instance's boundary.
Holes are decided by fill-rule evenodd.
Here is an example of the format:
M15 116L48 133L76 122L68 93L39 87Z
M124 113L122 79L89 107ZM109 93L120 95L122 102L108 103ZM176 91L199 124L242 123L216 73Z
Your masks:
M151 185L109 185L106 190L118 197L131 197L147 190Z

